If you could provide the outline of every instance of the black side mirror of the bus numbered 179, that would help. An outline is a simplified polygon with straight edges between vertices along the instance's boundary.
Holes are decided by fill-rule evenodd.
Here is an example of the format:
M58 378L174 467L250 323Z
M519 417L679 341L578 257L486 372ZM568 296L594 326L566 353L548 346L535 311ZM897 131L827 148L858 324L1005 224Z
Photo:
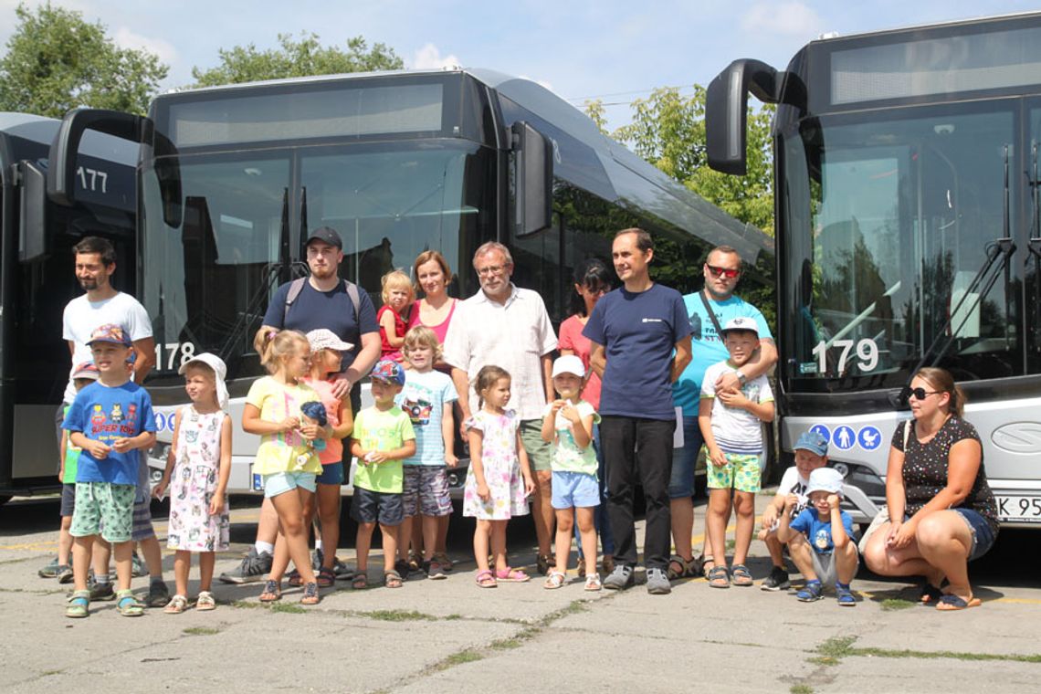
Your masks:
M709 166L734 176L747 173L748 92L763 103L777 103L779 86L777 70L748 58L715 76L705 98Z

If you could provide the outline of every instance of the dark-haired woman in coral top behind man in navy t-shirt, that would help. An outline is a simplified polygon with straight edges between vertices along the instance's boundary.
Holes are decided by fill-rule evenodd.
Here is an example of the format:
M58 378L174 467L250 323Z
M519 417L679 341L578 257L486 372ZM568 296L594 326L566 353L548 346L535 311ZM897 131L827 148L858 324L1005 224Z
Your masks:
M572 294L570 310L572 315L560 324L559 348L561 356L576 355L582 360L585 366L587 381L582 390L582 400L592 405L594 410L600 409L600 377L589 368L589 354L591 343L588 337L582 335L592 307L596 305L600 298L611 290L611 278L613 273L600 258L589 258L579 263L575 268L575 293ZM607 505L604 499L604 455L600 447L600 428L593 427L593 445L596 448L596 461L599 463L598 479L600 481L601 505L596 509L596 532L600 534L601 546L604 550L603 571L607 575L614 570L614 538L611 536L611 526L607 520ZM578 524L576 523L576 534ZM581 542L579 543L581 550ZM581 555L581 551L580 551ZM581 573L584 564L579 561L579 572Z

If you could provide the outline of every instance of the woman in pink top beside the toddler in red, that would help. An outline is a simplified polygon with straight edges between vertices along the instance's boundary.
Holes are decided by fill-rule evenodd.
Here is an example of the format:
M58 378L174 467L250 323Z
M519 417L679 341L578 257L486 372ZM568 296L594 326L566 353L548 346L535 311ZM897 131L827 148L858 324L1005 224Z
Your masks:
M408 320L409 329L426 326L434 331L437 341L445 344L445 335L449 332L452 314L455 313L456 304L459 302L458 299L449 297L452 268L449 267L448 260L437 251L424 251L412 263L412 281L415 282L423 298L412 305L412 314ZM446 374L452 370L445 362L437 363L435 367ZM458 414L457 412L457 417ZM458 418L456 420L458 421ZM447 545L451 517L451 515L437 517L437 546L434 547L434 560L439 562L446 571L452 570L452 560L449 559ZM423 546L421 523L413 523L412 546Z

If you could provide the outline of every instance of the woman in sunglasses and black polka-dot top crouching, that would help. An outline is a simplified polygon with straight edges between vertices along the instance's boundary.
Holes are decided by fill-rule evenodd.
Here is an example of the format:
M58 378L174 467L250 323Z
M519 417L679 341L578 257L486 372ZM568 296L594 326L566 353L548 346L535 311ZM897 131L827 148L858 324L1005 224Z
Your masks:
M990 549L998 528L980 435L962 418L965 394L947 371L922 368L910 390L913 418L897 425L889 449L891 520L865 538L864 560L881 575L923 575L921 600L937 610L974 608L968 562Z

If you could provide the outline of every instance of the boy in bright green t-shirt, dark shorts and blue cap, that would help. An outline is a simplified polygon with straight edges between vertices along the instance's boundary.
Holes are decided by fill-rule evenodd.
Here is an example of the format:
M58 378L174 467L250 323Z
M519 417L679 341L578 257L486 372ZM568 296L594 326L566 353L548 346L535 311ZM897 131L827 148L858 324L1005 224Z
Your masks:
M358 521L358 568L351 586L369 586L369 547L379 522L383 534L383 584L387 588L401 588L401 573L393 566L398 529L404 519L401 461L415 455L415 433L411 419L393 402L405 385L405 369L401 364L380 361L373 367L370 379L375 402L354 417L351 434L351 455L358 459L351 499L351 516Z

